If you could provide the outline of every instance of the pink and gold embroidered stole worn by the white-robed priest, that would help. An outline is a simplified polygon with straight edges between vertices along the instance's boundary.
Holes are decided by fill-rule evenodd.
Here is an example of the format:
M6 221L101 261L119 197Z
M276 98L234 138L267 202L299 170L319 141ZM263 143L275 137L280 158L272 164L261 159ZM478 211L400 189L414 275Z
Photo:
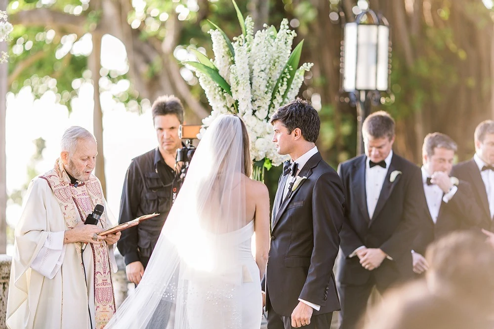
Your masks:
M84 221L97 204L104 204L103 192L98 179L91 175L88 181L79 184L78 188L70 186L70 178L64 169L61 159L57 159L52 170L40 176L48 182L62 209L65 224L69 229ZM101 215L103 228L107 227L106 212ZM111 266L106 242L100 245L89 244L92 251L94 267L94 315L96 329L103 329L115 314L115 297L111 277ZM82 244L76 250L82 259ZM84 271L81 262L81 270ZM90 296L89 296L90 297Z

